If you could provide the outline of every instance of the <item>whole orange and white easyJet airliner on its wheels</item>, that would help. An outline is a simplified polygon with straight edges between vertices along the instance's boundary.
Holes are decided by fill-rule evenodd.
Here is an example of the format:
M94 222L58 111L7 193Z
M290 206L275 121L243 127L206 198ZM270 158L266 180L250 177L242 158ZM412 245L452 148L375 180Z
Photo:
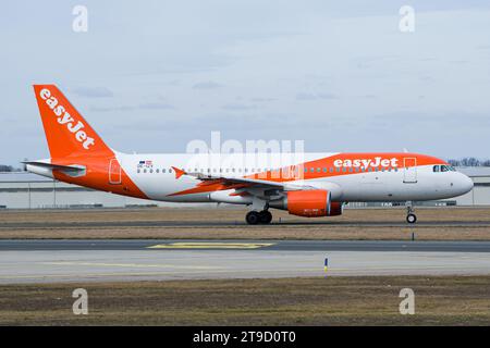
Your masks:
M54 85L35 85L34 91L51 158L25 162L28 171L143 199L246 204L249 224L270 223L271 208L306 217L340 215L348 201L408 202L406 220L415 223L412 201L473 188L446 162L418 153L121 153Z

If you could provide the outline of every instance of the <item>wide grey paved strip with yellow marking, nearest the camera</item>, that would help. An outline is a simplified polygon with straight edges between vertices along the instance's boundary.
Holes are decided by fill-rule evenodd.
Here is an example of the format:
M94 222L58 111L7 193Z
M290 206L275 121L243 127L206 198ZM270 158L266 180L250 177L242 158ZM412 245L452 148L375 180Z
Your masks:
M405 274L490 274L490 243L0 241L0 284Z

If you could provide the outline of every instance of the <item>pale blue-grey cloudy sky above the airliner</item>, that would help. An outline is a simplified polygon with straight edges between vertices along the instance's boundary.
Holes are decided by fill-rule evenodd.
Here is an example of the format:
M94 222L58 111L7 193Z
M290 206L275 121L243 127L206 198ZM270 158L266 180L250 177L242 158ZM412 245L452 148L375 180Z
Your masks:
M3 164L49 157L33 84L58 85L122 152L185 152L218 130L490 158L489 1L20 0L2 4L0 44Z

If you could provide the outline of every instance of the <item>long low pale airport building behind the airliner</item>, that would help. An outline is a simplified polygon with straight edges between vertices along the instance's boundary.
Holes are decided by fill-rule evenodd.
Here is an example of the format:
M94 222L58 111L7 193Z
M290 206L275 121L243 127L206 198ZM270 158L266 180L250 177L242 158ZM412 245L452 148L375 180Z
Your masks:
M457 170L474 181L475 187L471 191L453 199L420 202L420 204L490 206L490 167L458 167ZM148 201L97 191L76 185L60 183L27 172L0 173L0 209L125 208L148 206L179 207L177 203ZM197 206L203 206L203 203ZM377 206L393 204L390 202L351 202L348 208Z

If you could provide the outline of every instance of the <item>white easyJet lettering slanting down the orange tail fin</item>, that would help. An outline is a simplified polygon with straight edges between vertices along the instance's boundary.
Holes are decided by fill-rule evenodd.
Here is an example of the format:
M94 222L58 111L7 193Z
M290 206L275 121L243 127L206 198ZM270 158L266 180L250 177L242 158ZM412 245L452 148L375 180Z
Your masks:
M65 108L58 102L58 99L51 96L51 91L47 88L41 89L39 97L46 101L48 107L58 117L58 123L65 125L66 128L74 134L77 141L82 142L84 149L88 150L95 145L94 138L89 137L83 128L85 125L82 121L76 122L73 116L66 112Z

